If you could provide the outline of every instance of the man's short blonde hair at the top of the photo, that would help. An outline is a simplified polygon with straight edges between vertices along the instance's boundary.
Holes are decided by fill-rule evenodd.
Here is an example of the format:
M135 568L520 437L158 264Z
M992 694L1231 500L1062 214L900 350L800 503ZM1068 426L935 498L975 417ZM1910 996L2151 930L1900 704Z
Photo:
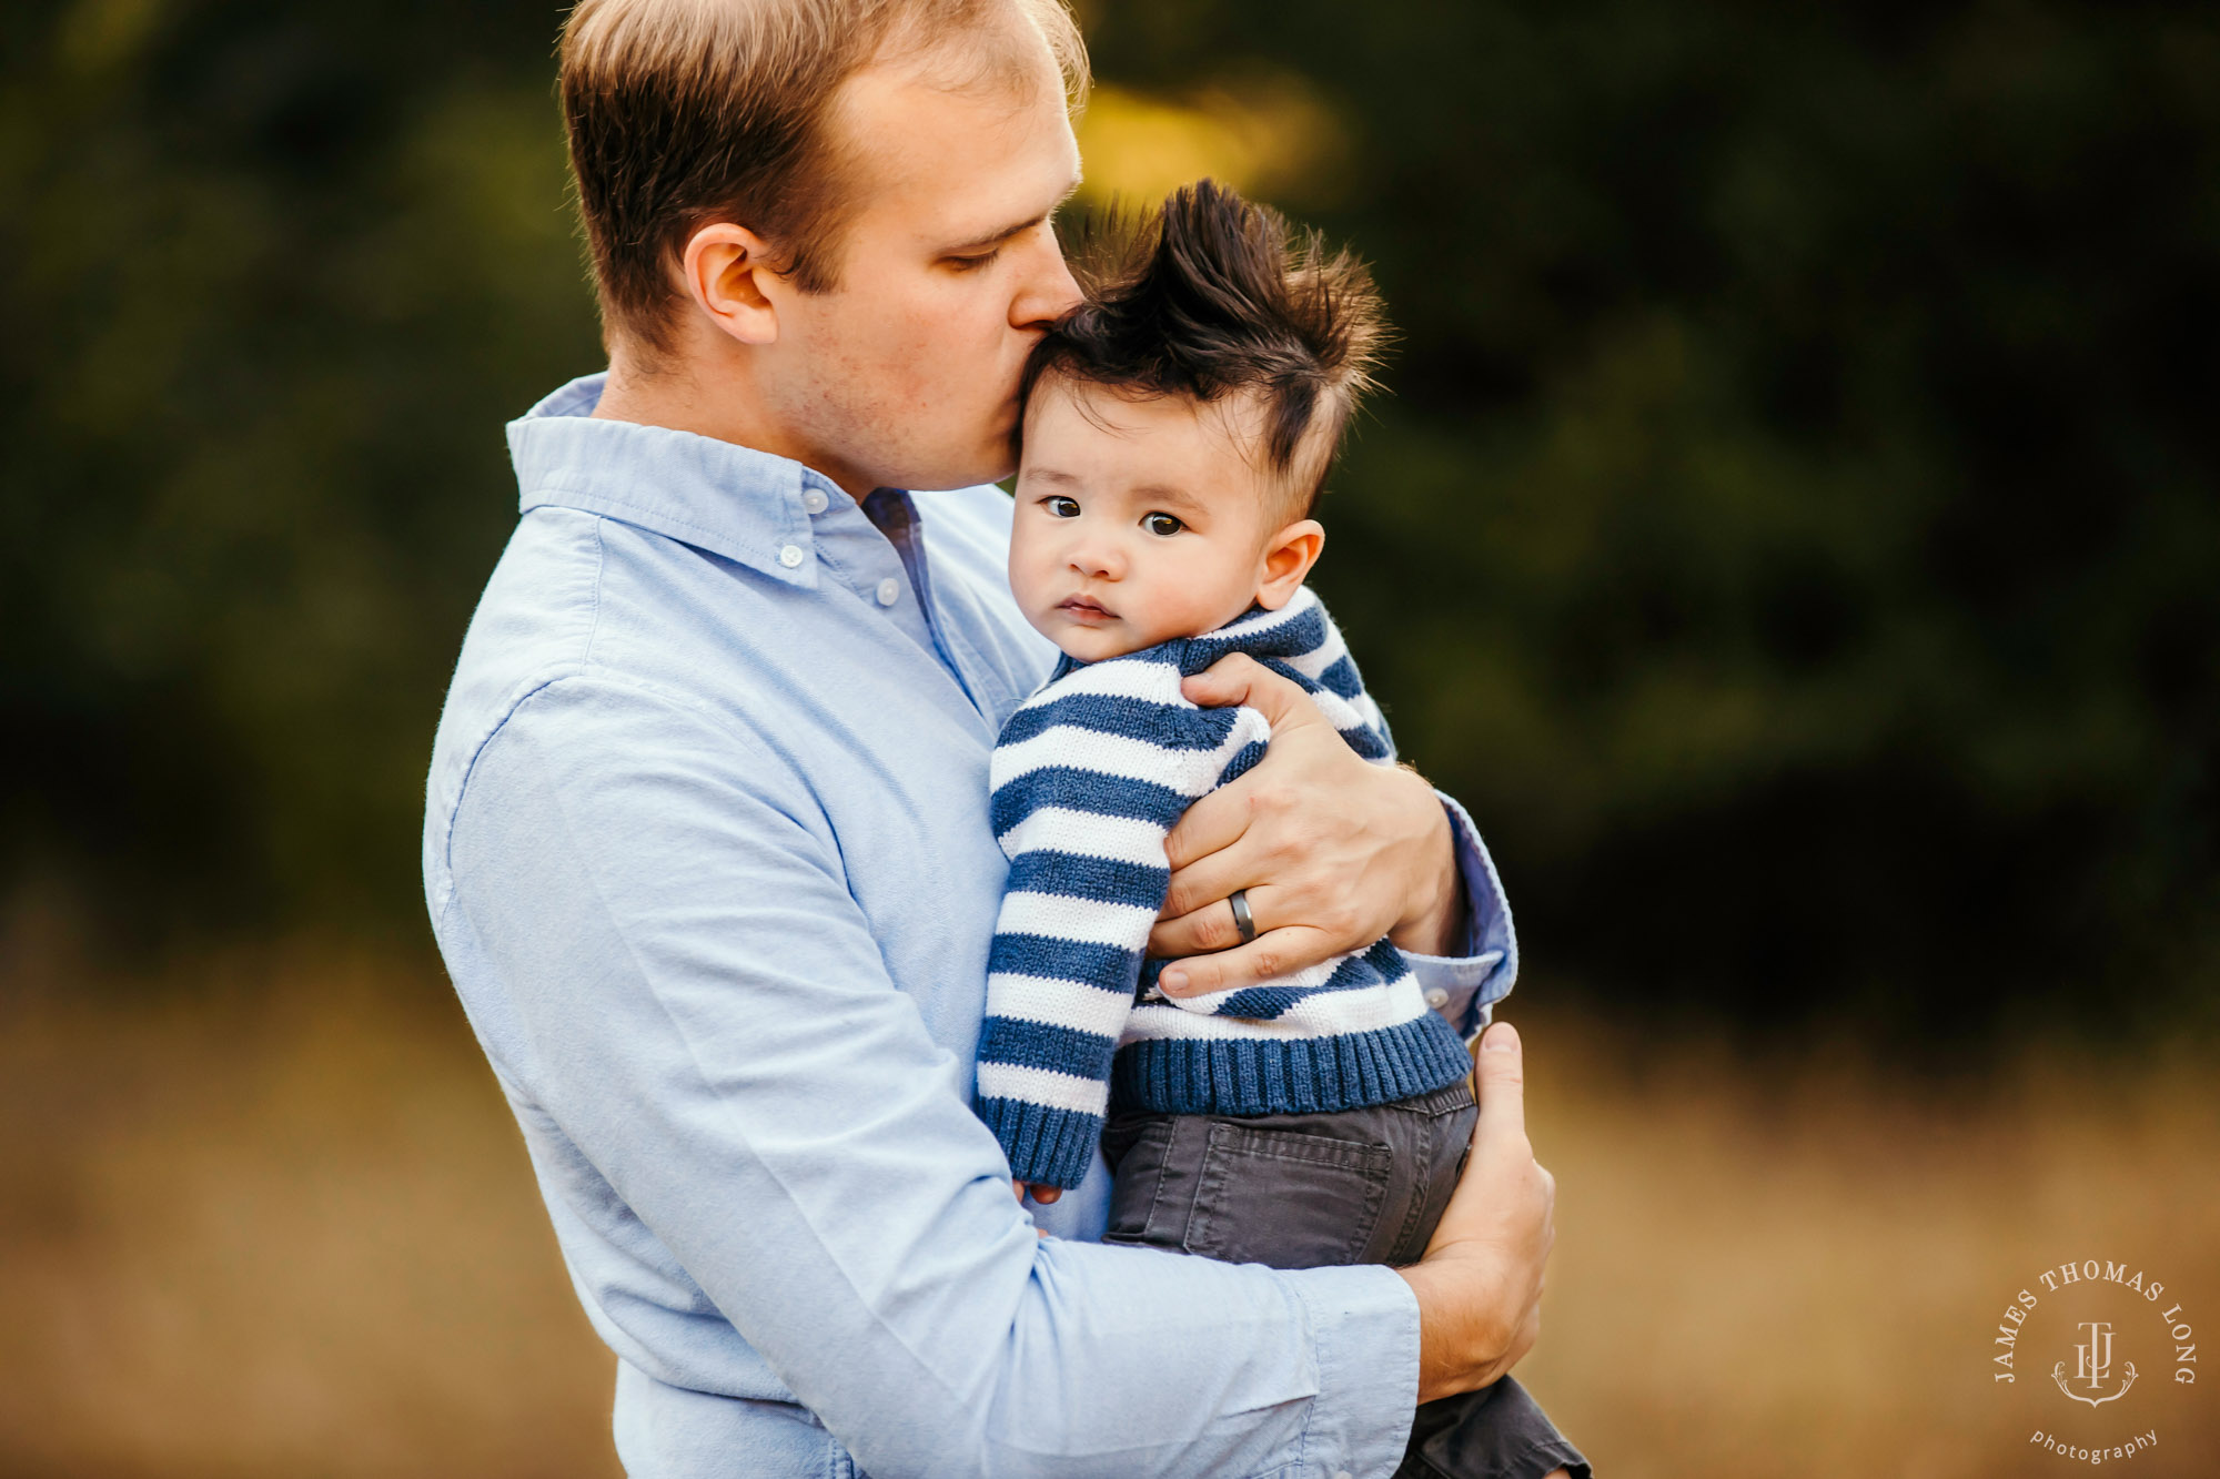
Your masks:
M673 266L717 220L773 242L801 291L837 286L839 84L930 56L968 64L959 87L1021 87L1035 38L1077 107L1088 53L1063 0L582 0L562 107L604 331L668 349Z

